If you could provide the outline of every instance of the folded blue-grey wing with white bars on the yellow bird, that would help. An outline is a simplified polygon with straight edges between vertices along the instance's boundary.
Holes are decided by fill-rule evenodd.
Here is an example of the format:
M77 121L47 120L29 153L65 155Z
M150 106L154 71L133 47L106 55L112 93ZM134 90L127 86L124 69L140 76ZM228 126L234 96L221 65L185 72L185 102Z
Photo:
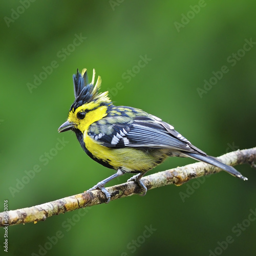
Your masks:
M206 155L174 130L174 127L153 115L136 116L113 122L108 117L90 126L88 135L107 147L170 148Z

